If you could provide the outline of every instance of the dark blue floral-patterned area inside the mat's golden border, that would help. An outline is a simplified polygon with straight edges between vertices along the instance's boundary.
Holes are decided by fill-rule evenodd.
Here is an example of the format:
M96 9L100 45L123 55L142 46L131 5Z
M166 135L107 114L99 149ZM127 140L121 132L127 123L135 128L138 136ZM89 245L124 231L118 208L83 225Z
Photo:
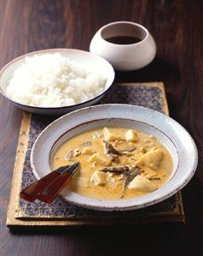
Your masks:
M156 86L133 86L119 85L114 87L99 104L119 103L119 104L137 104L153 110L164 112L164 95L161 89ZM32 145L38 134L50 123L55 117L32 115L31 129L29 134L28 148L24 163L21 188L25 188L35 181L30 165L30 153ZM55 218L85 218L85 217L124 217L137 215L165 214L175 211L177 207L177 198L172 196L157 205L136 211L94 211L71 205L61 197L55 199L51 205L47 205L39 200L27 202L20 199L20 210L24 217L55 217Z

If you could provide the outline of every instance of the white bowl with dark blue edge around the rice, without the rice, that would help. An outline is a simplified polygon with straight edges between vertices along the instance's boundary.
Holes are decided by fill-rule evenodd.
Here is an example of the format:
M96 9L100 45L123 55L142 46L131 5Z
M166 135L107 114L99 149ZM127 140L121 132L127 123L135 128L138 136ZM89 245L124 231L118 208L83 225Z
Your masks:
M9 85L9 80L11 80L14 70L19 68L22 63L24 63L25 57L33 57L34 55L43 55L43 54L53 54L53 53L61 53L62 57L68 57L76 63L84 65L84 67L94 68L98 67L101 70L102 74L106 75L107 80L105 83L105 89L102 93L97 95L95 98L90 98L87 101L84 101L80 104L74 104L70 106L63 107L37 107L30 106L27 104L20 104L19 102L14 101L12 98L6 93L6 87ZM113 67L110 63L108 63L102 57L98 57L88 51L81 51L76 49L46 49L41 51L32 51L23 56L16 57L14 60L5 65L0 71L0 92L3 97L9 99L15 106L19 107L22 110L26 110L32 113L44 114L44 115L62 115L67 112L78 110L83 107L90 106L92 104L96 104L105 93L107 93L108 89L113 85L114 80L114 71Z

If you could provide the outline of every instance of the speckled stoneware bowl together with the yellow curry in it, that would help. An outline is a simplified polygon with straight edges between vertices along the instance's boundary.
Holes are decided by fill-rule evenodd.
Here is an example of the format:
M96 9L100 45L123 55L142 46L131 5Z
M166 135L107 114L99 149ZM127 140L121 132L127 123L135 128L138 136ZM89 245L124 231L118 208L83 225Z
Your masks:
M130 104L75 110L52 122L32 147L37 179L80 162L61 196L102 211L154 205L194 175L197 150L188 132L169 116Z

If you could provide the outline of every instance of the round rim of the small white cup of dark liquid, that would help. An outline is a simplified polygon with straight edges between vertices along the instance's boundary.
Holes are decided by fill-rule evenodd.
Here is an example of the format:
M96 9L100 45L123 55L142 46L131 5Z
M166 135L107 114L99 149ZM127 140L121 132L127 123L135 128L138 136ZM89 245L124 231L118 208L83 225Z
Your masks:
M102 31L105 29L105 28L107 28L107 27L111 27L111 26L113 26L113 25L116 25L116 24L129 24L129 25L133 25L133 26L135 26L135 27L139 27L140 29L142 29L144 32L145 32L145 36L144 36L144 38L141 40L141 41L139 41L139 42L136 42L136 43L133 43L133 44L125 44L125 45L119 45L119 44L114 44L114 43L111 43L111 42L108 42L106 39L104 39L103 37L102 37ZM146 41L147 39L148 39L148 29L146 28L146 27L144 27L144 26L142 26L141 24L139 24L139 23L136 23L136 22L133 22L133 21L113 21L113 22L110 22L110 23L107 23L106 25L104 25L103 27L101 27L100 29L99 29L99 34L100 34L100 36L101 36L101 38L102 38L102 40L105 42L105 43L107 43L108 45L114 45L114 46L118 46L118 47L126 47L126 46L134 46L134 45L141 45L144 41Z

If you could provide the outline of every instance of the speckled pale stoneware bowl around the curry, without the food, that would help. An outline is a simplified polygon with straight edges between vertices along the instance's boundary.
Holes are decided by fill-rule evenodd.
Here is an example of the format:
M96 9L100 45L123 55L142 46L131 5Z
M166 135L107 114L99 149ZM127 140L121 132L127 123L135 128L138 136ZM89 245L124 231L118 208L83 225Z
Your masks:
M130 104L102 104L76 110L52 122L32 147L31 165L37 179L50 171L50 159L61 144L84 131L119 126L154 134L167 147L173 159L171 178L162 188L136 199L90 199L64 189L67 201L103 211L125 211L154 205L183 188L194 175L197 149L188 132L169 116Z

